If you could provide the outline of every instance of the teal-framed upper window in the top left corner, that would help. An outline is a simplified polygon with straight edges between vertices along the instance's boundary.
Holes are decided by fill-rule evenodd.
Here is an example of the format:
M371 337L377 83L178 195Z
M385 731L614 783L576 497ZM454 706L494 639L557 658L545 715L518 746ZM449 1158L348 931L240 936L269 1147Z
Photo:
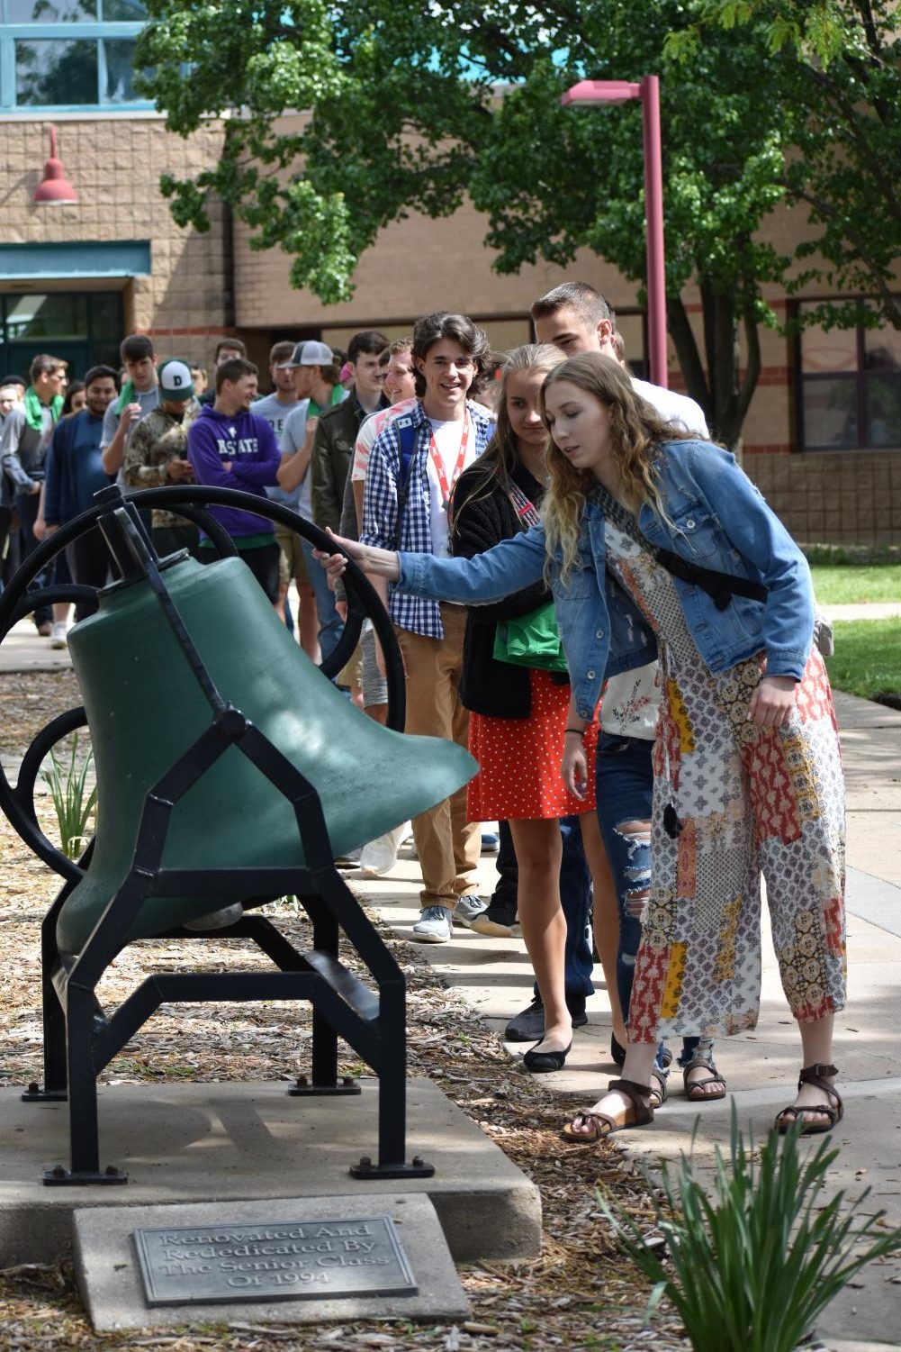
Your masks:
M132 84L138 0L0 0L0 108L149 108Z

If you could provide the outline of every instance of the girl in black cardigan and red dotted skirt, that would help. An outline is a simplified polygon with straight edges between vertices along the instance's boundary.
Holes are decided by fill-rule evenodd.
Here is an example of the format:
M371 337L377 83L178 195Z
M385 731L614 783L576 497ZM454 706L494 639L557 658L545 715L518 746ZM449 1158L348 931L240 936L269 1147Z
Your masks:
M544 376L562 360L562 353L547 345L509 353L498 389L497 431L454 491L454 554L480 554L538 521L547 449L538 396ZM613 1028L617 1036L624 1034L616 995L616 903L594 811L594 769L589 767L592 792L582 799L566 791L561 773L569 679L566 673L494 658L498 623L527 615L548 600L550 591L535 584L504 602L471 607L461 681L461 698L470 711L469 748L481 765L469 787L467 817L508 821L516 849L520 925L544 1006L544 1037L524 1057L532 1071L559 1069L573 1034L563 988L566 921L559 898L559 817L580 815L594 879L598 952ZM596 740L594 726L585 738L592 757Z

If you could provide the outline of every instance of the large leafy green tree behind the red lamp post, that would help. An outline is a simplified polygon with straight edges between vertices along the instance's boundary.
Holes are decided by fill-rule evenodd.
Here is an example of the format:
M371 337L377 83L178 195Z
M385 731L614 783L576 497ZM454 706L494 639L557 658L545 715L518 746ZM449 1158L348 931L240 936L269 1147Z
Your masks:
M790 258L761 239L785 196L783 65L765 19L704 20L704 0L149 0L138 59L170 130L228 115L217 165L165 177L181 224L208 227L217 193L286 250L292 281L346 299L359 254L409 211L486 216L494 266L566 265L588 246L639 288L644 279L640 111L561 108L585 76L661 74L667 318L689 392L727 443L761 369L767 283ZM670 49L688 34L694 50ZM190 77L185 78L185 65ZM311 110L301 130L278 118ZM700 331L686 293L696 281ZM739 335L743 356L739 358Z

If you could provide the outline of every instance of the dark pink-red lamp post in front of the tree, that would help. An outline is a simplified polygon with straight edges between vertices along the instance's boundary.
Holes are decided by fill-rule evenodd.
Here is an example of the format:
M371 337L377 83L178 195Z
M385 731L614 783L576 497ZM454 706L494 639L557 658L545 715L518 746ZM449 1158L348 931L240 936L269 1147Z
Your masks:
M651 380L667 385L666 362L666 277L663 269L663 155L661 149L661 82L644 76L628 80L580 80L566 91L563 107L585 108L590 103L642 100L644 141L644 222L647 234L647 318L651 347Z

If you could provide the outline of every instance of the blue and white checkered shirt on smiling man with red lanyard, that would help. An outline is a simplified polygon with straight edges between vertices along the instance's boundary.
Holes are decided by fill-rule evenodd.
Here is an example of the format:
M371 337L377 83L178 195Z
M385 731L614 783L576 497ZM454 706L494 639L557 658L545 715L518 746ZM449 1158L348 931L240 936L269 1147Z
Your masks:
M470 418L475 456L481 456L494 431L494 423L480 404L466 404ZM400 526L400 546L397 541L397 480L400 477L400 426L412 423L416 427L416 445L409 462L407 500ZM366 488L363 492L363 529L361 542L377 545L380 549L404 549L415 554L431 554L432 533L430 525L428 491L428 448L431 423L420 400L409 414L397 418L385 427L369 453L366 466ZM405 596L393 588L388 610L400 629L426 638L443 638L444 627L439 603L421 596Z

